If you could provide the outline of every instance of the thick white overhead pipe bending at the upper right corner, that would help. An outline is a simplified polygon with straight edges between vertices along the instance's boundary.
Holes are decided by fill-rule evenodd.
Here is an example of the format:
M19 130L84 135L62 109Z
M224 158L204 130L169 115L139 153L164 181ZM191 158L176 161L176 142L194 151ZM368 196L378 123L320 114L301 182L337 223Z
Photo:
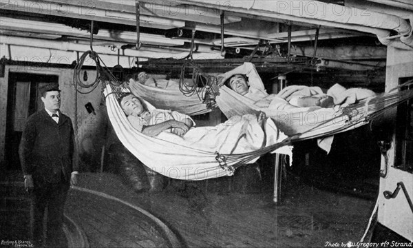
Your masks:
M219 1L176 0L175 3L190 4L207 8L226 6ZM260 15L271 19L284 19L314 25L330 26L348 30L358 30L376 34L385 45L412 49L412 26L392 14L372 12L358 8L340 6L319 1L275 1L275 0L238 0L231 1L231 12ZM388 39L390 30L401 34L399 41ZM401 41L401 42L400 42Z

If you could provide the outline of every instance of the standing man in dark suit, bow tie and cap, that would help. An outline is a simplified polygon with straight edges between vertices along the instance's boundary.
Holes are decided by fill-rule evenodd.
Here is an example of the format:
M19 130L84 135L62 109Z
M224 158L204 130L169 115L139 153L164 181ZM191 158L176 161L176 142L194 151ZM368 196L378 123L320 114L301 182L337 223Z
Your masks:
M30 230L36 247L61 247L63 210L69 187L77 183L76 145L72 121L60 112L57 83L40 88L45 108L25 123L19 147L25 189L32 197ZM43 237L43 216L47 207L47 237ZM64 244L64 243L63 243Z

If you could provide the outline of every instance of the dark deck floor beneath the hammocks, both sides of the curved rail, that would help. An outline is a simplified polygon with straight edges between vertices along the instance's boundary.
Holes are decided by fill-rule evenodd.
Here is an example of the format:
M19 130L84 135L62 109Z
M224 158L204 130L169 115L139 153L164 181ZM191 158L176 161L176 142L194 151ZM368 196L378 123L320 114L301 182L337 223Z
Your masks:
M187 187L182 188L182 184ZM282 205L271 192L205 192L202 182L169 184L136 193L113 174L82 174L80 186L116 196L164 221L187 247L325 247L359 241L374 203L322 192L307 185L284 187ZM66 214L83 227L91 247L163 247L165 242L131 209L71 191Z

